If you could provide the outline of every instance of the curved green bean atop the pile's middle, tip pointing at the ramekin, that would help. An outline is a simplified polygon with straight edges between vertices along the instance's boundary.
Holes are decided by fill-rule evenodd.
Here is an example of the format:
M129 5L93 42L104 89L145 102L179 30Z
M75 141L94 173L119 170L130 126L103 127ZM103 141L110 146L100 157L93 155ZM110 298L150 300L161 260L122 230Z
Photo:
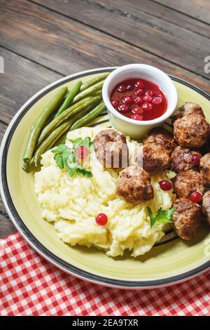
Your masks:
M99 96L89 97L84 100L81 100L80 103L76 103L76 105L72 105L68 109L64 110L62 114L59 114L56 118L52 119L50 123L45 126L43 131L41 132L41 136L38 138L38 145L40 145L46 136L48 136L52 130L54 130L58 125L62 124L66 119L72 117L76 112L85 109L88 105L94 104L99 101Z

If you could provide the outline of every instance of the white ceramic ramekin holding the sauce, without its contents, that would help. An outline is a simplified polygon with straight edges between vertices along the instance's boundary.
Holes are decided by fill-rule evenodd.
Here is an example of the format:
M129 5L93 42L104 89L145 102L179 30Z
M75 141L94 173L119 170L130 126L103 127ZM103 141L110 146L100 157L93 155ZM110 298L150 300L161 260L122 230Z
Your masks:
M111 105L111 91L121 81L132 78L152 81L162 89L167 97L167 110L165 114L162 114L162 116L157 119L137 121L135 119L127 118L116 111ZM111 72L106 78L106 81L104 81L102 95L113 128L116 128L117 131L120 131L125 136L130 136L131 138L142 138L151 130L151 128L161 126L164 121L172 116L178 100L176 87L174 86L172 79L157 67L145 64L124 65Z

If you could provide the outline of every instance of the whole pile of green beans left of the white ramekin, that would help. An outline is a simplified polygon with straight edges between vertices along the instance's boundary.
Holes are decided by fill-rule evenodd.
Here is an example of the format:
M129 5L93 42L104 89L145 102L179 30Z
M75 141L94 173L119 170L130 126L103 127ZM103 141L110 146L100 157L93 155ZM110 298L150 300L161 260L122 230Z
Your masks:
M64 140L66 131L88 126L106 109L101 101L102 86L108 75L109 72L84 84L78 81L71 91L63 87L57 92L31 126L22 169L27 171L31 164L38 166L41 154Z

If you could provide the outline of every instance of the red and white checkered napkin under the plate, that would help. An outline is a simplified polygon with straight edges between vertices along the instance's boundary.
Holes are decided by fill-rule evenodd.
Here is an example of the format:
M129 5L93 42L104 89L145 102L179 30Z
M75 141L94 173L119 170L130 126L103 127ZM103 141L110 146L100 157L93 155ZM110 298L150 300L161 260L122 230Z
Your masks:
M0 315L209 315L209 273L162 289L110 289L50 265L17 233L1 240Z

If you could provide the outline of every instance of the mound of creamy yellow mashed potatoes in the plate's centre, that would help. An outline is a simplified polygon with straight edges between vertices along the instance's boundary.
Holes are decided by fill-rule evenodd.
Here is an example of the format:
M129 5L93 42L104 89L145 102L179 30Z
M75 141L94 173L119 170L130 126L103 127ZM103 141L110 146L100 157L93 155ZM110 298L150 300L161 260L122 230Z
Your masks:
M93 139L101 130L85 127L69 132L66 145L71 146L69 140L78 137ZM130 151L134 144L127 138ZM123 256L125 249L129 249L137 257L150 251L165 235L163 225L151 228L146 207L155 213L160 207L172 206L174 194L162 191L158 184L167 178L166 173L151 178L154 199L133 206L116 194L117 171L104 169L94 151L90 153L92 178L77 175L71 178L65 169L57 167L53 157L50 150L42 155L41 171L35 173L35 191L43 218L54 223L63 242L71 246L97 246L111 257ZM109 218L105 226L95 222L95 216L101 212Z

